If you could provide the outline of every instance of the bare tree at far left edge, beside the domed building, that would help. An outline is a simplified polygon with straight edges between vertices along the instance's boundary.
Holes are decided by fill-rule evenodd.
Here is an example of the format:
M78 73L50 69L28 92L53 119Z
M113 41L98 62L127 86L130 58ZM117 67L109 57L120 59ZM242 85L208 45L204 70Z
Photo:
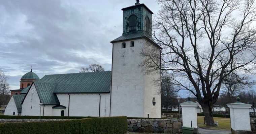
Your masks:
M2 105L7 105L10 99L10 97L6 97L10 93L7 79L8 77L0 70L0 104Z

